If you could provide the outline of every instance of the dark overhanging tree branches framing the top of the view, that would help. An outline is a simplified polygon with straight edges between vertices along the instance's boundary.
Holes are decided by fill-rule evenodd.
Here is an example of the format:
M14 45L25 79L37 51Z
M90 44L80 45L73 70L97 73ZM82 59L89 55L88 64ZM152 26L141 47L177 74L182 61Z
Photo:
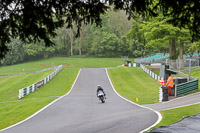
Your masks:
M157 16L159 11L178 27L188 28L193 39L200 37L200 3L198 0L1 0L0 1L0 57L8 51L11 38L19 37L24 42L43 40L46 46L53 45L51 36L67 23L72 28L75 22L77 35L82 25L96 23L101 26L100 14L110 7L125 10L128 18Z

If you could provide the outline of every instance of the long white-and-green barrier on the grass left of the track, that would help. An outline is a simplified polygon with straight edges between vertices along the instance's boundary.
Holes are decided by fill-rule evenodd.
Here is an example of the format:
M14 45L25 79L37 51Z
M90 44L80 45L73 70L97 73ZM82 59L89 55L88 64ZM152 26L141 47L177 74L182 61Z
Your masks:
M54 76L56 76L56 74L58 72L60 72L60 70L62 70L62 65L57 66L56 70L54 72L52 72L50 75L48 75L47 77L45 77L44 79L42 79L42 80L38 81L37 83L32 84L28 87L20 89L19 90L19 99L21 99L24 96L36 91L38 88L40 88L41 86L48 83Z

